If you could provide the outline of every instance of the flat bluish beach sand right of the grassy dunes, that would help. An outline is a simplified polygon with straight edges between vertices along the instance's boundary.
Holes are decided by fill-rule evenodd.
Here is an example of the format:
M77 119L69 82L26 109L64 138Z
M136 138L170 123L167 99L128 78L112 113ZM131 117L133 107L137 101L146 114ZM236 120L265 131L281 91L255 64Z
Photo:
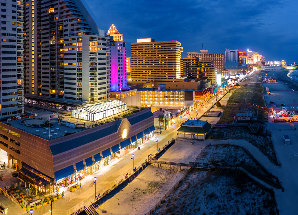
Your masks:
M281 108L280 104L286 104L289 110L298 111L298 83L287 77L288 71L265 71L263 76L274 77L278 83L264 83L264 87L269 87L271 95L264 94L264 98L268 107L269 101L277 104L277 108ZM266 75L267 74L267 75ZM293 91L294 90L294 91ZM281 167L268 168L276 175L282 186L282 190L274 190L277 199L277 206L280 214L297 214L298 202L298 133L294 128L298 128L297 122L292 123L273 123L273 117L268 114L267 128L271 132L271 139L277 153L277 159L281 163ZM290 145L285 145L283 135L291 138ZM295 154L297 156L295 156Z

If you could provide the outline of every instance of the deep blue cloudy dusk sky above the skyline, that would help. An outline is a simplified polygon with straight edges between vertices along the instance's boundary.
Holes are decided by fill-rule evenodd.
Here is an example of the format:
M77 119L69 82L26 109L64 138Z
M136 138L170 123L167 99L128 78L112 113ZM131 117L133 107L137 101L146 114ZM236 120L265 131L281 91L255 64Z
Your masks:
M100 29L114 24L124 42L178 40L187 51L257 51L266 61L298 63L298 1L86 0ZM131 56L128 44L127 56Z

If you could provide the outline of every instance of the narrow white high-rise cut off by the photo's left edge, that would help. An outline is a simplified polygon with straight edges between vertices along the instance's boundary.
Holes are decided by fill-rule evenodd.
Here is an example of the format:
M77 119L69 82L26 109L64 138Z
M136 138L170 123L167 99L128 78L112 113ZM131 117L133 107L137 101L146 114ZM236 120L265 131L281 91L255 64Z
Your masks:
M0 118L24 114L23 3L1 2Z

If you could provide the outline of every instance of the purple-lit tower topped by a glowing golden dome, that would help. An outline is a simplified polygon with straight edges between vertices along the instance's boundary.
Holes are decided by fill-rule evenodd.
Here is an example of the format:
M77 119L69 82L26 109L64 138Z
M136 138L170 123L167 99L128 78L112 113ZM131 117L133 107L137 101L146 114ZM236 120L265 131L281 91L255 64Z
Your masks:
M126 87L126 43L122 41L122 34L118 33L114 25L107 35L110 46L110 91L117 91Z

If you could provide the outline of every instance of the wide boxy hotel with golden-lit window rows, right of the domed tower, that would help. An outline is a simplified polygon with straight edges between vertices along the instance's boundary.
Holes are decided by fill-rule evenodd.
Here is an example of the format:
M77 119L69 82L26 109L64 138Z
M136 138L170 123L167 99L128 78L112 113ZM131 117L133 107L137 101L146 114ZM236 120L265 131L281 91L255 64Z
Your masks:
M138 39L131 43L132 81L175 81L180 79L183 48L178 41Z

